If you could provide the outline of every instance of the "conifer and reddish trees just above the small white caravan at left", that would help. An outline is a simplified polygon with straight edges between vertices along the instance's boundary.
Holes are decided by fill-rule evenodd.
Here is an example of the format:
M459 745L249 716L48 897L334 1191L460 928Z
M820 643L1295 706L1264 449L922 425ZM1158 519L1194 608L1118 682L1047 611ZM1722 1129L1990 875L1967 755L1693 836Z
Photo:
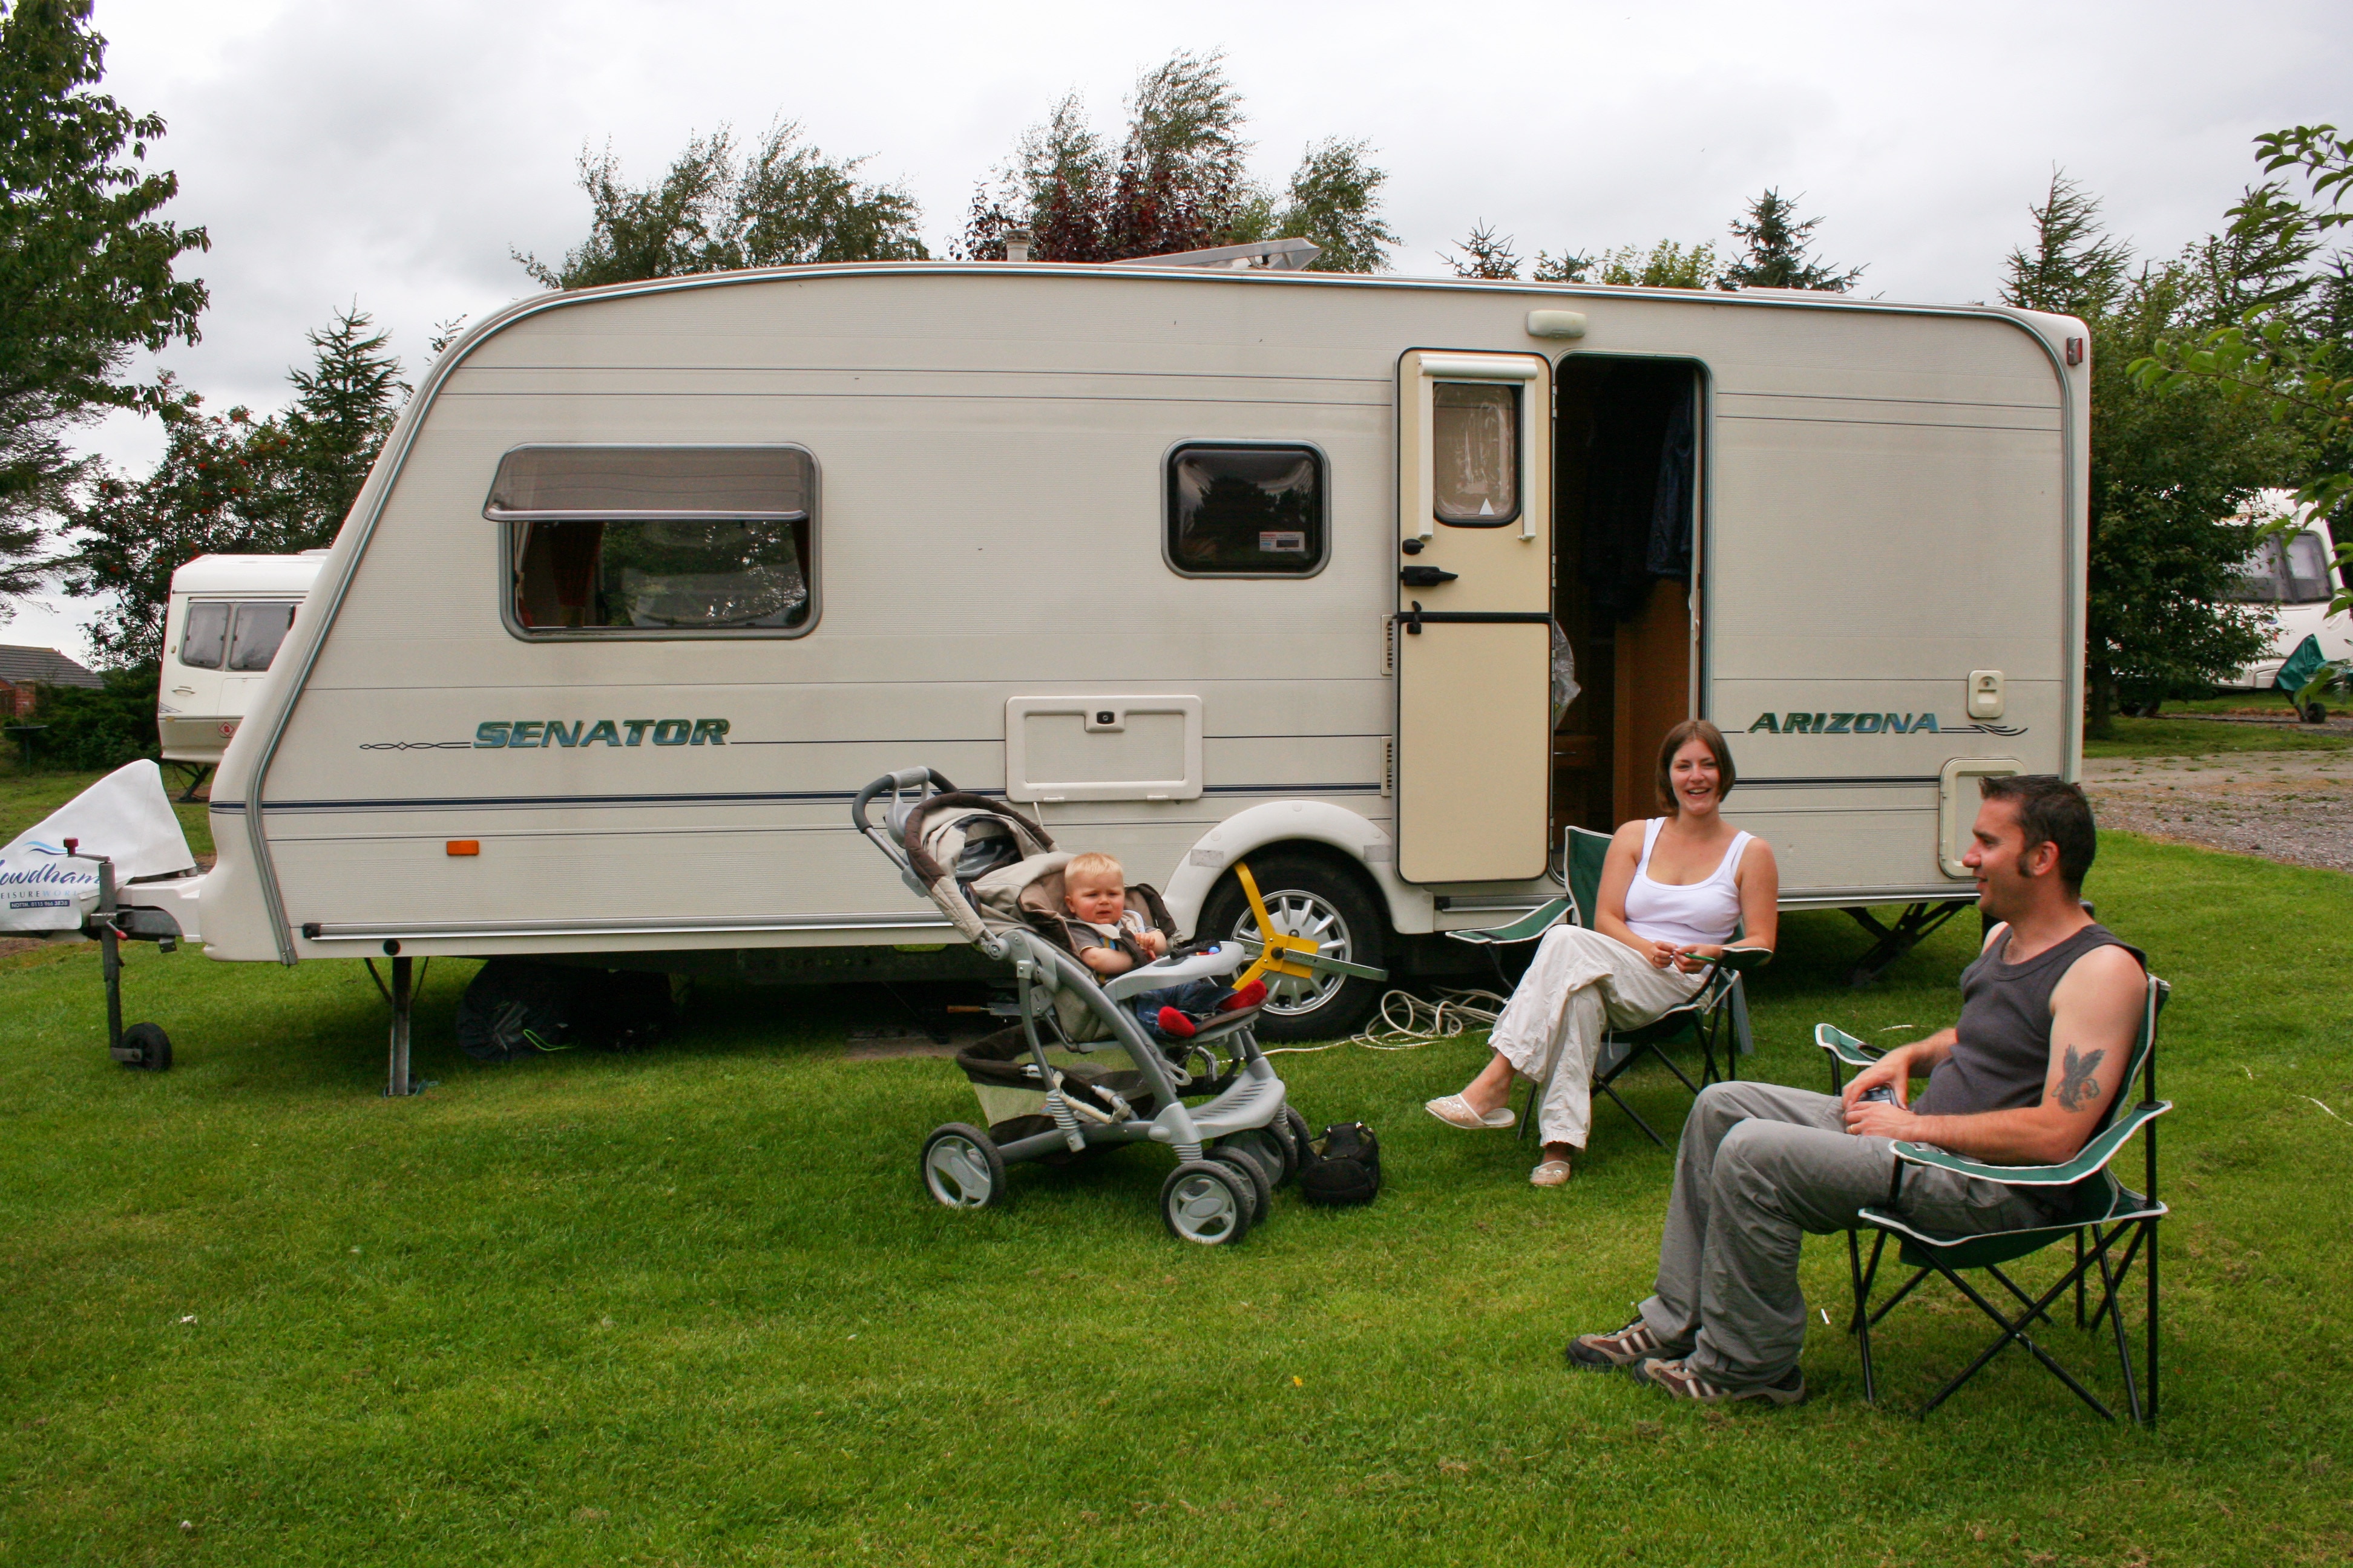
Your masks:
M308 334L311 369L287 371L285 414L202 414L165 383L174 418L144 480L99 475L73 508L66 592L106 599L89 628L99 663L146 668L162 654L172 571L198 555L289 555L334 543L407 388L369 317L344 310Z

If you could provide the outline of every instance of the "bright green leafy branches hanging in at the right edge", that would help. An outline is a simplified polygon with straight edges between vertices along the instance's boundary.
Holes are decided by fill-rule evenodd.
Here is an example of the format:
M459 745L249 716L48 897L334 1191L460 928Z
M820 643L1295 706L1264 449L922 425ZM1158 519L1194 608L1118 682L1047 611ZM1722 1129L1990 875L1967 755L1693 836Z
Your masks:
M2172 397L2224 397L2259 409L2287 437L2289 458L2280 477L2297 487L2297 501L2315 512L2334 512L2339 576L2353 576L2353 261L2334 252L2320 266L2332 230L2353 223L2353 139L2334 125L2297 125L2254 139L2266 174L2292 172L2306 195L2287 181L2249 188L2226 214L2231 228L2212 242L2217 256L2233 256L2252 270L2252 287L2221 292L2235 306L2221 322L2200 322L2200 336L2165 336L2146 346L2129 369L2144 390ZM2282 524L2287 527L2287 524ZM2332 614L2353 607L2353 590L2339 590Z

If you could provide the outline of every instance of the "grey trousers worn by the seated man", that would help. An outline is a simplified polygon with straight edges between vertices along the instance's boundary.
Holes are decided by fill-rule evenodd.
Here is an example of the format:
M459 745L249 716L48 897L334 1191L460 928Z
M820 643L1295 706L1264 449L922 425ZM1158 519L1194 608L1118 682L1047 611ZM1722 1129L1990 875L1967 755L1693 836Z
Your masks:
M1852 1229L1887 1206L1897 1157L1887 1138L1847 1133L1835 1095L1779 1084L1708 1084L1675 1150L1675 1194L1659 1237L1659 1293L1642 1321L1708 1382L1781 1378L1805 1347L1798 1246ZM1897 1211L1946 1237L2045 1225L2000 1182L1906 1166Z

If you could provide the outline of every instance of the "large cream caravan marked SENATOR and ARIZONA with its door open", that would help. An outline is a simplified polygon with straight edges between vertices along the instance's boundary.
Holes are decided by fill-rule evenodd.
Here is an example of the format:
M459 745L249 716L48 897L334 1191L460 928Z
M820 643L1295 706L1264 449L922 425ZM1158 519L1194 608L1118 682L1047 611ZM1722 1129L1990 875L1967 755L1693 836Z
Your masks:
M529 299L407 404L169 903L221 959L951 973L847 811L932 766L1181 926L1247 922L1247 858L1332 957L1428 973L1558 889L1567 825L1652 813L1706 715L1786 905L1951 912L1974 778L2075 773L2085 414L2080 322L1833 294L868 263Z

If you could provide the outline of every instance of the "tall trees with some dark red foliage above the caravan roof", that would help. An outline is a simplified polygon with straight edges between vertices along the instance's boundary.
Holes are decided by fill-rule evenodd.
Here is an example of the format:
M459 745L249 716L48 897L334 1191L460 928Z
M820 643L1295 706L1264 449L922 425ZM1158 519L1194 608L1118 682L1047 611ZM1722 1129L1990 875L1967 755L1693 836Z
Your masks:
M1146 71L1113 143L1078 94L1024 132L1012 160L972 195L958 254L1002 261L1016 228L1038 261L1127 261L1294 235L1320 273L1388 266L1372 146L1327 136L1306 148L1282 193L1249 174L1242 96L1224 52L1176 52Z

